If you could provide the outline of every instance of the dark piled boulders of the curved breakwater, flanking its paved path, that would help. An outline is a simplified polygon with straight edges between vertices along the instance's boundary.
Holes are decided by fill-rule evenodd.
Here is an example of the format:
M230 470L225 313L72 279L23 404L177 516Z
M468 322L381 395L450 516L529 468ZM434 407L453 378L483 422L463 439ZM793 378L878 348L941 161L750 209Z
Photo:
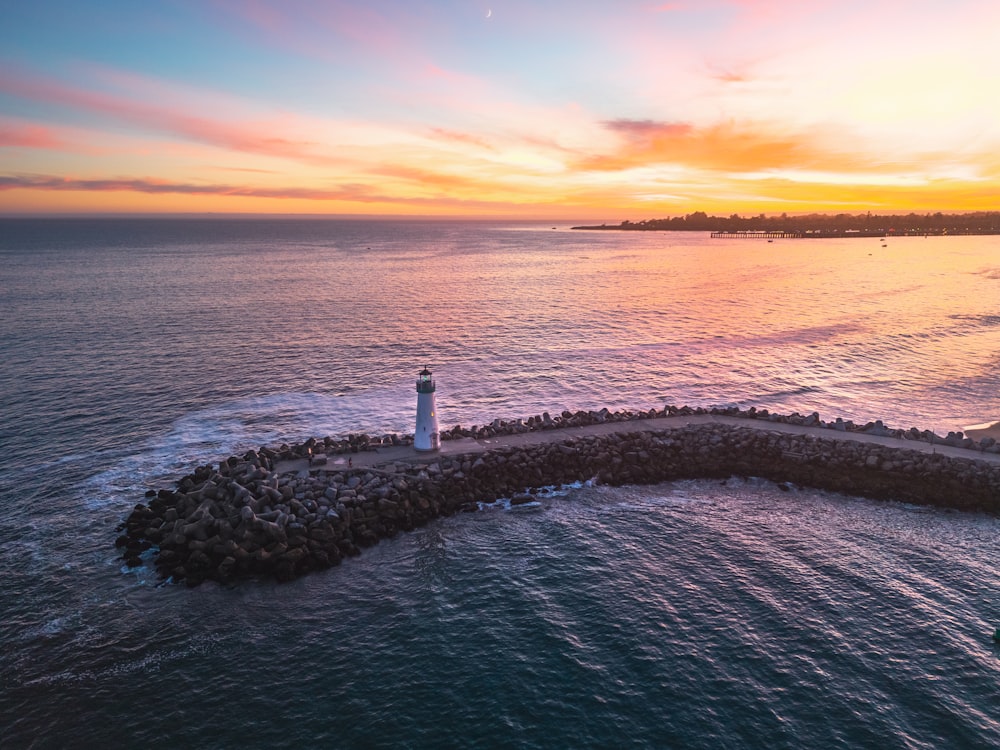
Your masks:
M686 411L685 411L686 410ZM829 437L785 434L766 425L687 425L637 430L629 422L685 414L826 427ZM799 421L801 420L801 421ZM360 452L378 445L405 445L403 438L350 436L310 438L295 446L261 448L218 464L200 466L173 489L147 493L120 527L116 545L125 563L138 566L152 553L159 575L196 586L245 577L291 580L337 565L379 539L479 503L534 500L541 488L595 480L610 485L653 484L676 479L763 477L873 498L1000 513L1000 464L977 458L1000 453L991 439L975 443L961 433L940 438L917 430L863 426L818 415L776 416L751 409L699 410L667 407L649 412L563 412L515 422L497 421L449 439L484 439L536 430L621 422L606 434L555 433L530 445L501 445L468 454L414 455L412 460L345 469L326 468L319 454ZM897 437L971 448L968 457L862 442L836 432ZM444 437L444 436L442 436ZM310 467L279 473L282 460L305 457ZM314 460L315 459L315 460ZM149 556L149 553L145 555Z

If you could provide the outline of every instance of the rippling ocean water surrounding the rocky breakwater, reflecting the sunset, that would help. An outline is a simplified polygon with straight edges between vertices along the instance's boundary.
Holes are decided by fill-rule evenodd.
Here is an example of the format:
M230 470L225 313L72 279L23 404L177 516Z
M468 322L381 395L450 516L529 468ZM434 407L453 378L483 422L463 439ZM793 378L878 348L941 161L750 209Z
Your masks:
M739 406L1000 418L1000 237L0 220L0 746L993 748L1000 519L763 480L564 488L292 583L124 569L196 465Z

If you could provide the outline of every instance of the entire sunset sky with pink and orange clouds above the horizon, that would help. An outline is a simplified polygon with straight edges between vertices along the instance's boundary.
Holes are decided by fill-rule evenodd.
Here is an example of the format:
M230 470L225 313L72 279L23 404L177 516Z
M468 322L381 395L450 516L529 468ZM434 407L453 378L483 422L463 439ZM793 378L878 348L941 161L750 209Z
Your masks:
M0 0L0 213L1000 209L997 0Z

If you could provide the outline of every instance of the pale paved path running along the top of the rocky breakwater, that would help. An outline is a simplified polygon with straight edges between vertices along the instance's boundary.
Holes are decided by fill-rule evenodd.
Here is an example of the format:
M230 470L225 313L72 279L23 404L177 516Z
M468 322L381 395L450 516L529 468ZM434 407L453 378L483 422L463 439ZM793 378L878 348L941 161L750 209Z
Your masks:
M608 435L615 432L653 432L656 430L677 429L688 425L725 424L735 427L747 427L765 432L782 432L789 435L815 435L830 440L852 440L859 443L875 443L893 448L920 451L921 453L940 453L956 458L968 458L989 463L1000 464L1000 454L982 453L967 448L954 448L950 445L932 445L921 440L907 440L895 437L880 437L863 432L840 432L824 427L804 427L802 425L768 422L762 419L740 419L715 414L696 414L690 416L658 417L656 419L637 419L630 422L604 422L603 424L584 425L582 427L564 427L556 430L539 430L521 432L514 435L498 435L486 440L461 438L459 440L441 441L441 450L421 452L412 445L385 446L374 451L360 453L331 454L327 457L325 466L313 468L346 469L348 461L353 467L383 466L394 462L423 461L430 463L439 456L461 455L467 453L485 453L501 446L538 445L540 443L557 443L572 440L587 435ZM275 466L279 474L293 471L307 471L309 465L304 458L295 461L278 461Z

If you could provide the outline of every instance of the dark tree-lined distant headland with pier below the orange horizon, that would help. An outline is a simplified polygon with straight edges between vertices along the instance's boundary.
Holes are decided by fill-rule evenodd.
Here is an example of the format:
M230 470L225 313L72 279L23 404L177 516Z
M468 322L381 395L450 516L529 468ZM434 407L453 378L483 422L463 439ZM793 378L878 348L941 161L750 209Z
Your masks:
M718 237L914 237L1000 234L1000 211L965 214L805 214L800 216L709 216L696 211L666 219L573 229L630 232L711 232Z

